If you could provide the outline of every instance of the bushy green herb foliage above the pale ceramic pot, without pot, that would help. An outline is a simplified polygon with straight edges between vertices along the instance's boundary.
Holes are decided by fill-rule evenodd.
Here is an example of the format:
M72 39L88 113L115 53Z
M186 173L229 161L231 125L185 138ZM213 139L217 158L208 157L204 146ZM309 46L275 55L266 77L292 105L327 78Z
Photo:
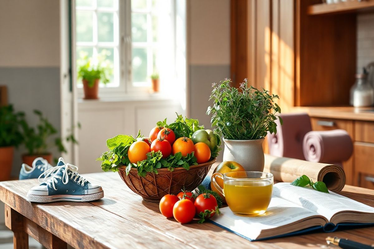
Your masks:
M254 140L266 136L267 131L276 133L277 113L281 108L274 103L278 95L269 91L248 87L245 79L240 88L230 86L231 80L225 79L220 84L212 84L208 107L212 127L216 126L226 139ZM282 119L279 117L282 124Z

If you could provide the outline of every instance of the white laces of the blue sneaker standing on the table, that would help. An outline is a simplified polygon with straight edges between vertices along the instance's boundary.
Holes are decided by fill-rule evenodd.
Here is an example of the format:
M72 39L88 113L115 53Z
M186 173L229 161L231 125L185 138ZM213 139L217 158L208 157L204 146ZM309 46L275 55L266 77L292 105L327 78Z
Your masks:
M73 181L76 182L77 184L80 183L82 186L85 185L87 180L77 173L78 167L75 166L75 165L72 165L72 164L65 164L65 165L62 165L62 166L56 166L56 167L47 169L45 172L43 172L39 176L38 181L40 183L43 183L43 182L46 183L49 187L52 185L53 189L57 190L56 187L55 187L55 183L58 183L57 179L61 180L61 176L56 175L55 173L57 173L61 168L65 168L64 173L62 174L62 183L63 184L67 184L69 182L69 179L73 180L73 178L74 178ZM71 172L68 172L68 169L70 169ZM46 178L49 177L51 174L54 174L54 175L51 176L48 180L46 180ZM42 175L45 175L45 176L44 176L43 180L40 181L40 177L42 177ZM70 175L70 177L69 177L69 175Z

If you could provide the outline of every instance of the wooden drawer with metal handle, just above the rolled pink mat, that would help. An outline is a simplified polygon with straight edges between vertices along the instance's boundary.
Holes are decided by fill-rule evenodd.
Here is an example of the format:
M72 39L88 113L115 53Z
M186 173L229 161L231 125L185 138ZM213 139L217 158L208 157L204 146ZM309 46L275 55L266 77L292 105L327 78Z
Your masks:
M329 131L342 129L346 130L353 140L353 121L343 119L329 119L329 118L310 118L313 131Z

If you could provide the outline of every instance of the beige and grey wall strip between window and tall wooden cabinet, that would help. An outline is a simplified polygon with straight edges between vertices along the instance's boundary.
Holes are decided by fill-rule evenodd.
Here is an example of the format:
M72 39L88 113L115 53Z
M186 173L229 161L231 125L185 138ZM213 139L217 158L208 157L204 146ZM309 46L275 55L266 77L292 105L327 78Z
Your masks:
M210 128L206 109L212 83L230 78L230 1L189 0L187 4L190 116Z

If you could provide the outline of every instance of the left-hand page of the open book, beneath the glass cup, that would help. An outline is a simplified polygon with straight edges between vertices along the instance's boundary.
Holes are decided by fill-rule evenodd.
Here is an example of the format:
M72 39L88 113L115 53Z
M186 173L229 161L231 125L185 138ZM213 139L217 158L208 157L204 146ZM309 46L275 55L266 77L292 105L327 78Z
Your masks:
M213 222L252 240L257 239L263 230L288 225L308 217L320 216L316 212L275 196L272 197L266 213L257 217L234 215L229 207L220 208L220 211L220 215L212 217ZM279 231L278 234L282 233L284 231ZM277 234L276 229L272 234L273 236Z

